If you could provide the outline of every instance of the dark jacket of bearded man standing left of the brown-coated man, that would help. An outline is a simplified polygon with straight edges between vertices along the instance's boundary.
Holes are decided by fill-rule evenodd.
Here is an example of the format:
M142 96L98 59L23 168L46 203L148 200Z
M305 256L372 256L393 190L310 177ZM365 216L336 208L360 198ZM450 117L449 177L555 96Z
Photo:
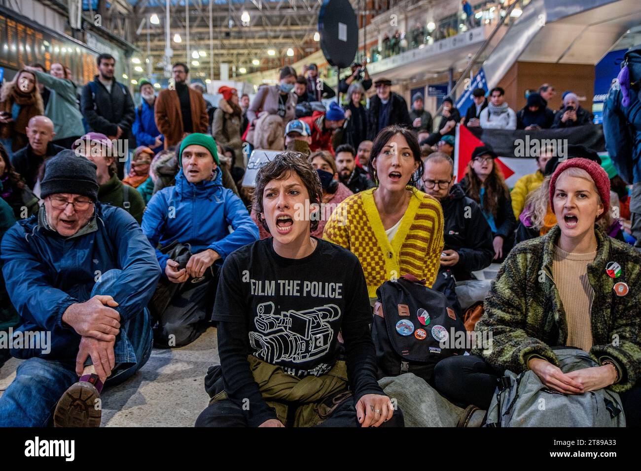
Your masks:
M115 136L117 128L120 127L121 138L127 138L133 120L136 118L136 111L129 90L122 83L113 79L110 93L99 81L98 76L95 76L93 82L83 87L80 103L90 131L101 132L105 136Z

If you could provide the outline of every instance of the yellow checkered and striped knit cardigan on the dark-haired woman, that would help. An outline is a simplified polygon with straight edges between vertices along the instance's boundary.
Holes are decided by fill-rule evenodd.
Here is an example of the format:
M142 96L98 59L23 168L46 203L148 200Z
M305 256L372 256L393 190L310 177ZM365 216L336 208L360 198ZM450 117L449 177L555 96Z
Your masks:
M408 187L410 189L410 187ZM413 191L392 243L374 202L374 188L349 196L333 212L323 239L350 250L360 260L370 298L387 280L414 275L431 286L443 250L443 210L422 191Z

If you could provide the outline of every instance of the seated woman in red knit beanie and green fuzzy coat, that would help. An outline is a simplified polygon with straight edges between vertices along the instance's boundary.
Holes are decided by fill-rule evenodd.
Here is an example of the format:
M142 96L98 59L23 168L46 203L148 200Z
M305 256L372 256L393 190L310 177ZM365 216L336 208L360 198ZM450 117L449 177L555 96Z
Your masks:
M435 385L451 401L487 410L503 371L531 370L561 394L610 388L626 424L638 427L641 254L595 225L610 210L610 180L598 163L563 162L549 195L557 224L510 252L485 298L475 330L493 333L492 348L437 363ZM612 262L622 276L608 276ZM617 285L624 289L615 293ZM564 373L552 348L560 345L589 352L600 366Z

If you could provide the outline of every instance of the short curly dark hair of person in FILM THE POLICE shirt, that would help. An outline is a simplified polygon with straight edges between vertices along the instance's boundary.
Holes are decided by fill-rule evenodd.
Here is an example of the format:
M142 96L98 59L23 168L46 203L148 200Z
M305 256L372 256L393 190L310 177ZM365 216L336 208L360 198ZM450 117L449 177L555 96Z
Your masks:
M269 232L267 221L261 216L261 213L264 211L263 191L265 191L265 186L267 186L271 180L284 180L291 173L296 173L296 175L303 180L303 185L309 195L310 207L312 205L320 205L322 199L320 177L318 172L312 167L312 164L308 163L307 156L300 152L290 152L287 150L277 154L271 162L258 170L256 174L256 188L254 188L253 209L256 211L258 221L260 221L267 232ZM310 232L313 232L319 227L319 221L317 218L311 219Z

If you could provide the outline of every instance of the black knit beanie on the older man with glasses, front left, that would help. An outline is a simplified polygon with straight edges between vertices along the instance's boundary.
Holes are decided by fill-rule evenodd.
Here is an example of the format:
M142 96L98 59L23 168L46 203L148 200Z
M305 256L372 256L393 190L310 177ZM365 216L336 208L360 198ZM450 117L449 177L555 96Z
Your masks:
M40 183L40 198L56 193L71 193L98 199L96 164L79 157L71 149L61 150L45 164L44 177Z

